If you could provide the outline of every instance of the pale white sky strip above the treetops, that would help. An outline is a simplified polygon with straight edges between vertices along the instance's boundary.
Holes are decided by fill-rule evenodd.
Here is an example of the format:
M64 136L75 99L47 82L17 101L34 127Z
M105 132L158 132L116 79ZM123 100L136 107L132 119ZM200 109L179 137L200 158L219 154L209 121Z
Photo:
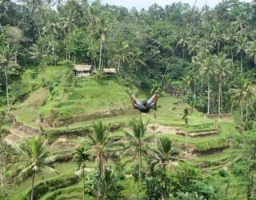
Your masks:
M108 3L110 5L125 6L129 9L136 7L138 10L141 10L143 7L147 9L154 3L157 3L160 6L165 6L170 5L173 2L189 3L191 6L194 6L195 0L102 0L102 4ZM205 2L207 6L213 8L218 2L222 2L222 0L198 0L196 6L202 7ZM241 0L241 2L252 2L252 0Z

